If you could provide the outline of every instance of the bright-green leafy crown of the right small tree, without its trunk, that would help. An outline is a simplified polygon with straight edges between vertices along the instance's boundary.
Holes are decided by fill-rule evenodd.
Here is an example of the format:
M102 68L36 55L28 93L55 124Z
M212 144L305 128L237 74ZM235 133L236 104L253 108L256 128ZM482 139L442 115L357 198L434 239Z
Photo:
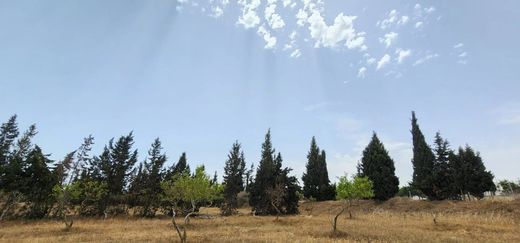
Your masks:
M368 177L356 176L349 180L347 176L339 178L336 185L336 198L338 200L359 200L374 197L373 183Z

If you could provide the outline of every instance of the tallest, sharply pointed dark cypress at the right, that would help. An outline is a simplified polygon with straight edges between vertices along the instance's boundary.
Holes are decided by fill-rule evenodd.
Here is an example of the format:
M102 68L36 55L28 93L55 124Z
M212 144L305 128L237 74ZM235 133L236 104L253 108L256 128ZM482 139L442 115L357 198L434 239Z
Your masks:
M433 164L435 155L426 143L424 135L417 124L415 112L412 111L412 138L413 138L413 181L414 188L420 190L428 198L434 198Z

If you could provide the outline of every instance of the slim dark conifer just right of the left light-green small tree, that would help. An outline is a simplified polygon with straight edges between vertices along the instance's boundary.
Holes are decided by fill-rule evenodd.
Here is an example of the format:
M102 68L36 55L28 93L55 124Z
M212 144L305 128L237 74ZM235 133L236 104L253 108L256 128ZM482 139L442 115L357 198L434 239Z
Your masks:
M231 215L238 208L237 195L244 190L245 167L244 152L240 143L236 141L229 151L224 167L224 203L221 208L223 215Z

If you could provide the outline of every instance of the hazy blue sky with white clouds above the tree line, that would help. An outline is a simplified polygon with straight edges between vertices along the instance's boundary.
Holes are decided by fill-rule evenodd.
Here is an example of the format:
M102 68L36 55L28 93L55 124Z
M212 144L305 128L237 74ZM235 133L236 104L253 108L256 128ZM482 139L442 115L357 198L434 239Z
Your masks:
M220 176L271 129L301 178L316 136L332 181L376 132L404 185L413 110L428 142L518 179L518 23L516 0L0 0L0 120L36 123L55 160L133 131L139 161L159 137L168 165Z

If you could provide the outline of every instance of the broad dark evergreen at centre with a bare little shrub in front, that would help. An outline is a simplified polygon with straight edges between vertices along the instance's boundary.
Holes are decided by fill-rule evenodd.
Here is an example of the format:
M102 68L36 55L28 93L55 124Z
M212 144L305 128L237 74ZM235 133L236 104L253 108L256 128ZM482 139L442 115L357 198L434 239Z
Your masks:
M251 184L249 204L257 215L275 215L298 213L297 179L288 175L290 169L282 170L282 157L271 143L271 131L265 135L262 144L262 158L256 170L254 182ZM281 184L280 184L281 183ZM273 190L282 188L283 200L276 200L270 195Z

